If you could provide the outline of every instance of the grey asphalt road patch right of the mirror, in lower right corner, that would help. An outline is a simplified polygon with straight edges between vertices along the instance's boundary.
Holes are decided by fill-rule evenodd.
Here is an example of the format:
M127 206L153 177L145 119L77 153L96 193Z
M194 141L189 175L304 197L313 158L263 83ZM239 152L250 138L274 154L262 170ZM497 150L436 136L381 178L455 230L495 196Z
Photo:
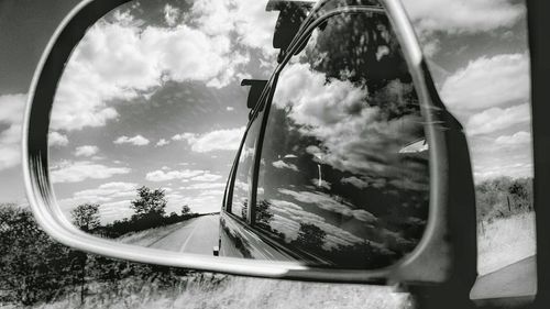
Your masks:
M473 300L531 298L537 294L537 258L517 263L479 277L470 293Z

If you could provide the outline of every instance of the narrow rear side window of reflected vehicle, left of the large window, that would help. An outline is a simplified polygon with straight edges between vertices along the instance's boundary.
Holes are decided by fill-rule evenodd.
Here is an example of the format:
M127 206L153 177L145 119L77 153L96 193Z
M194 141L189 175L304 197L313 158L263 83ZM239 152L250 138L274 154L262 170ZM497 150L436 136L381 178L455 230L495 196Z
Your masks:
M256 148L257 133L261 121L258 117L252 120L252 124L244 137L244 144L239 153L237 162L237 172L233 179L233 198L230 212L246 220L249 202L252 187L252 173L254 168L254 152Z

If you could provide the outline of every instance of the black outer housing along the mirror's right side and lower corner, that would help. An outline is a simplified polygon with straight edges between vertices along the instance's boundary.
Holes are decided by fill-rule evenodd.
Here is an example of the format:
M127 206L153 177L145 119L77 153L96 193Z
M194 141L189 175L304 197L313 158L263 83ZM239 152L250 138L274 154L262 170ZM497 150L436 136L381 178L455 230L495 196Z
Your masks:
M470 300L470 290L477 277L477 234L475 189L470 152L463 128L444 108L426 62L421 64L426 85L435 107L444 122L448 154L447 224L451 243L452 272L438 285L409 284L418 308L476 308Z

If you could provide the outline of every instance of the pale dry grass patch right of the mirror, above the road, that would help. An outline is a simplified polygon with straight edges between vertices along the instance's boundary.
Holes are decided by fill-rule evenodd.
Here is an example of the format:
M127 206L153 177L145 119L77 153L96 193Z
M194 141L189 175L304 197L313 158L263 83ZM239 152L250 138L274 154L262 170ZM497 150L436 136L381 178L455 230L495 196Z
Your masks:
M477 271L488 274L536 254L535 213L483 221L477 225Z

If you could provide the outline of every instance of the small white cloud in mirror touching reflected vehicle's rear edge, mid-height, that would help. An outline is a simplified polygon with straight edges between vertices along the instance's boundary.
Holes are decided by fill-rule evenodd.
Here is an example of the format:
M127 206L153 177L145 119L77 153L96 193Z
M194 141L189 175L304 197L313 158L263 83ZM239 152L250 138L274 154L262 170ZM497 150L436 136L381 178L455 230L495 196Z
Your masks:
M204 134L183 133L172 136L174 141L186 141L191 151L207 153L213 151L237 151L245 128L216 130Z

